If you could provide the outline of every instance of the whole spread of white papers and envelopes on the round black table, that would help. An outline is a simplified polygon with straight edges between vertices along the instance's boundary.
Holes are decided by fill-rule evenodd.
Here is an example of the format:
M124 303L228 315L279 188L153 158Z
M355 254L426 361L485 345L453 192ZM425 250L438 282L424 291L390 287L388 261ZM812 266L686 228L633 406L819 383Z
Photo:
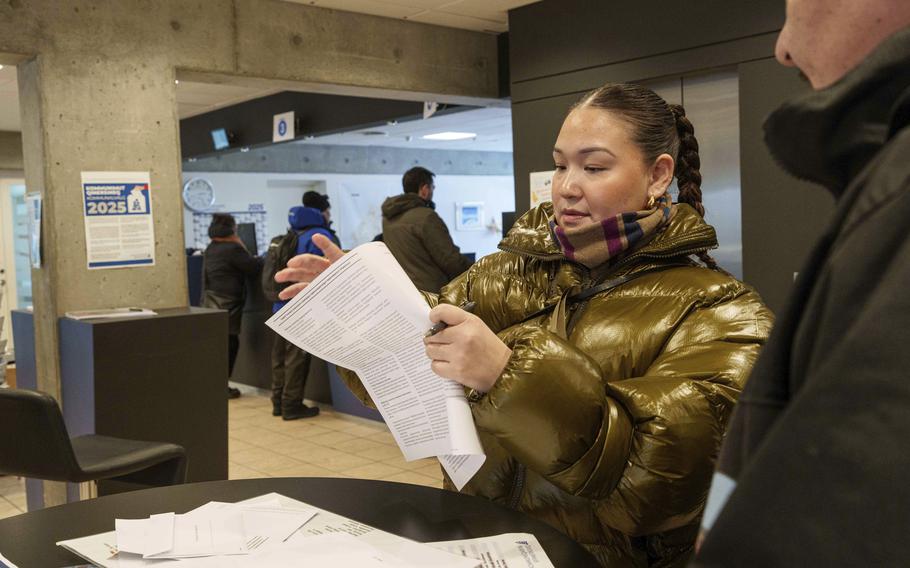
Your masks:
M530 534L421 544L276 493L115 525L57 544L102 568L553 567Z

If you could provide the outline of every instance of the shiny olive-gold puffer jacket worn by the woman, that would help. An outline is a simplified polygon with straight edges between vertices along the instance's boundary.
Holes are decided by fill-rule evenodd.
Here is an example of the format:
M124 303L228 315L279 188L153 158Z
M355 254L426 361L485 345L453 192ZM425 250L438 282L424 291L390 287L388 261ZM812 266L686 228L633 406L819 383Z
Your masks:
M550 207L524 215L501 252L431 298L473 300L512 349L496 385L472 403L487 460L463 492L553 525L604 566L682 566L771 313L738 280L681 265L717 244L687 205L605 274L566 260L547 227ZM528 318L633 273L642 274L570 305L567 334L551 325L553 311Z

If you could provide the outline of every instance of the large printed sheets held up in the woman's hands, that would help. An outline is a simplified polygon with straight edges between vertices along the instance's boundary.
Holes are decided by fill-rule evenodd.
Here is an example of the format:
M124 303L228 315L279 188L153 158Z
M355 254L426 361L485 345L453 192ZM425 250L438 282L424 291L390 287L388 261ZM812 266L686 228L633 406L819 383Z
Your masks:
M316 357L355 371L406 460L437 456L461 489L486 456L463 387L430 368L430 308L383 243L361 245L266 323Z

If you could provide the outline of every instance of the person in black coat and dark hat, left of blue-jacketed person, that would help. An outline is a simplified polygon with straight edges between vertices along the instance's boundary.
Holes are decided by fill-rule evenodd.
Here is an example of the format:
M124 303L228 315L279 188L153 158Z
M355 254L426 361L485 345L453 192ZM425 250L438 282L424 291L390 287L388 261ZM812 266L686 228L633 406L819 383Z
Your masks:
M240 325L246 301L246 279L259 274L262 259L250 254L237 236L237 222L228 213L215 213L209 225L202 276L202 306L228 312L228 377L240 350ZM240 391L228 387L228 396L237 398Z

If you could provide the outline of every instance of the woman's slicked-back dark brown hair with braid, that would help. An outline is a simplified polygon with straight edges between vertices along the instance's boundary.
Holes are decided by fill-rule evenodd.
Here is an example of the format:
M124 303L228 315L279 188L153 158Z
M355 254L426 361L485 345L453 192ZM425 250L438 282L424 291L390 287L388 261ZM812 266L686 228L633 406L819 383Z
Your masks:
M705 216L701 203L701 159L695 129L680 105L668 104L657 93L630 83L608 83L587 93L571 109L591 107L616 114L632 127L632 141L641 150L646 163L661 154L673 156L673 175L679 186L679 202L686 203ZM698 258L708 268L718 269L708 253Z

